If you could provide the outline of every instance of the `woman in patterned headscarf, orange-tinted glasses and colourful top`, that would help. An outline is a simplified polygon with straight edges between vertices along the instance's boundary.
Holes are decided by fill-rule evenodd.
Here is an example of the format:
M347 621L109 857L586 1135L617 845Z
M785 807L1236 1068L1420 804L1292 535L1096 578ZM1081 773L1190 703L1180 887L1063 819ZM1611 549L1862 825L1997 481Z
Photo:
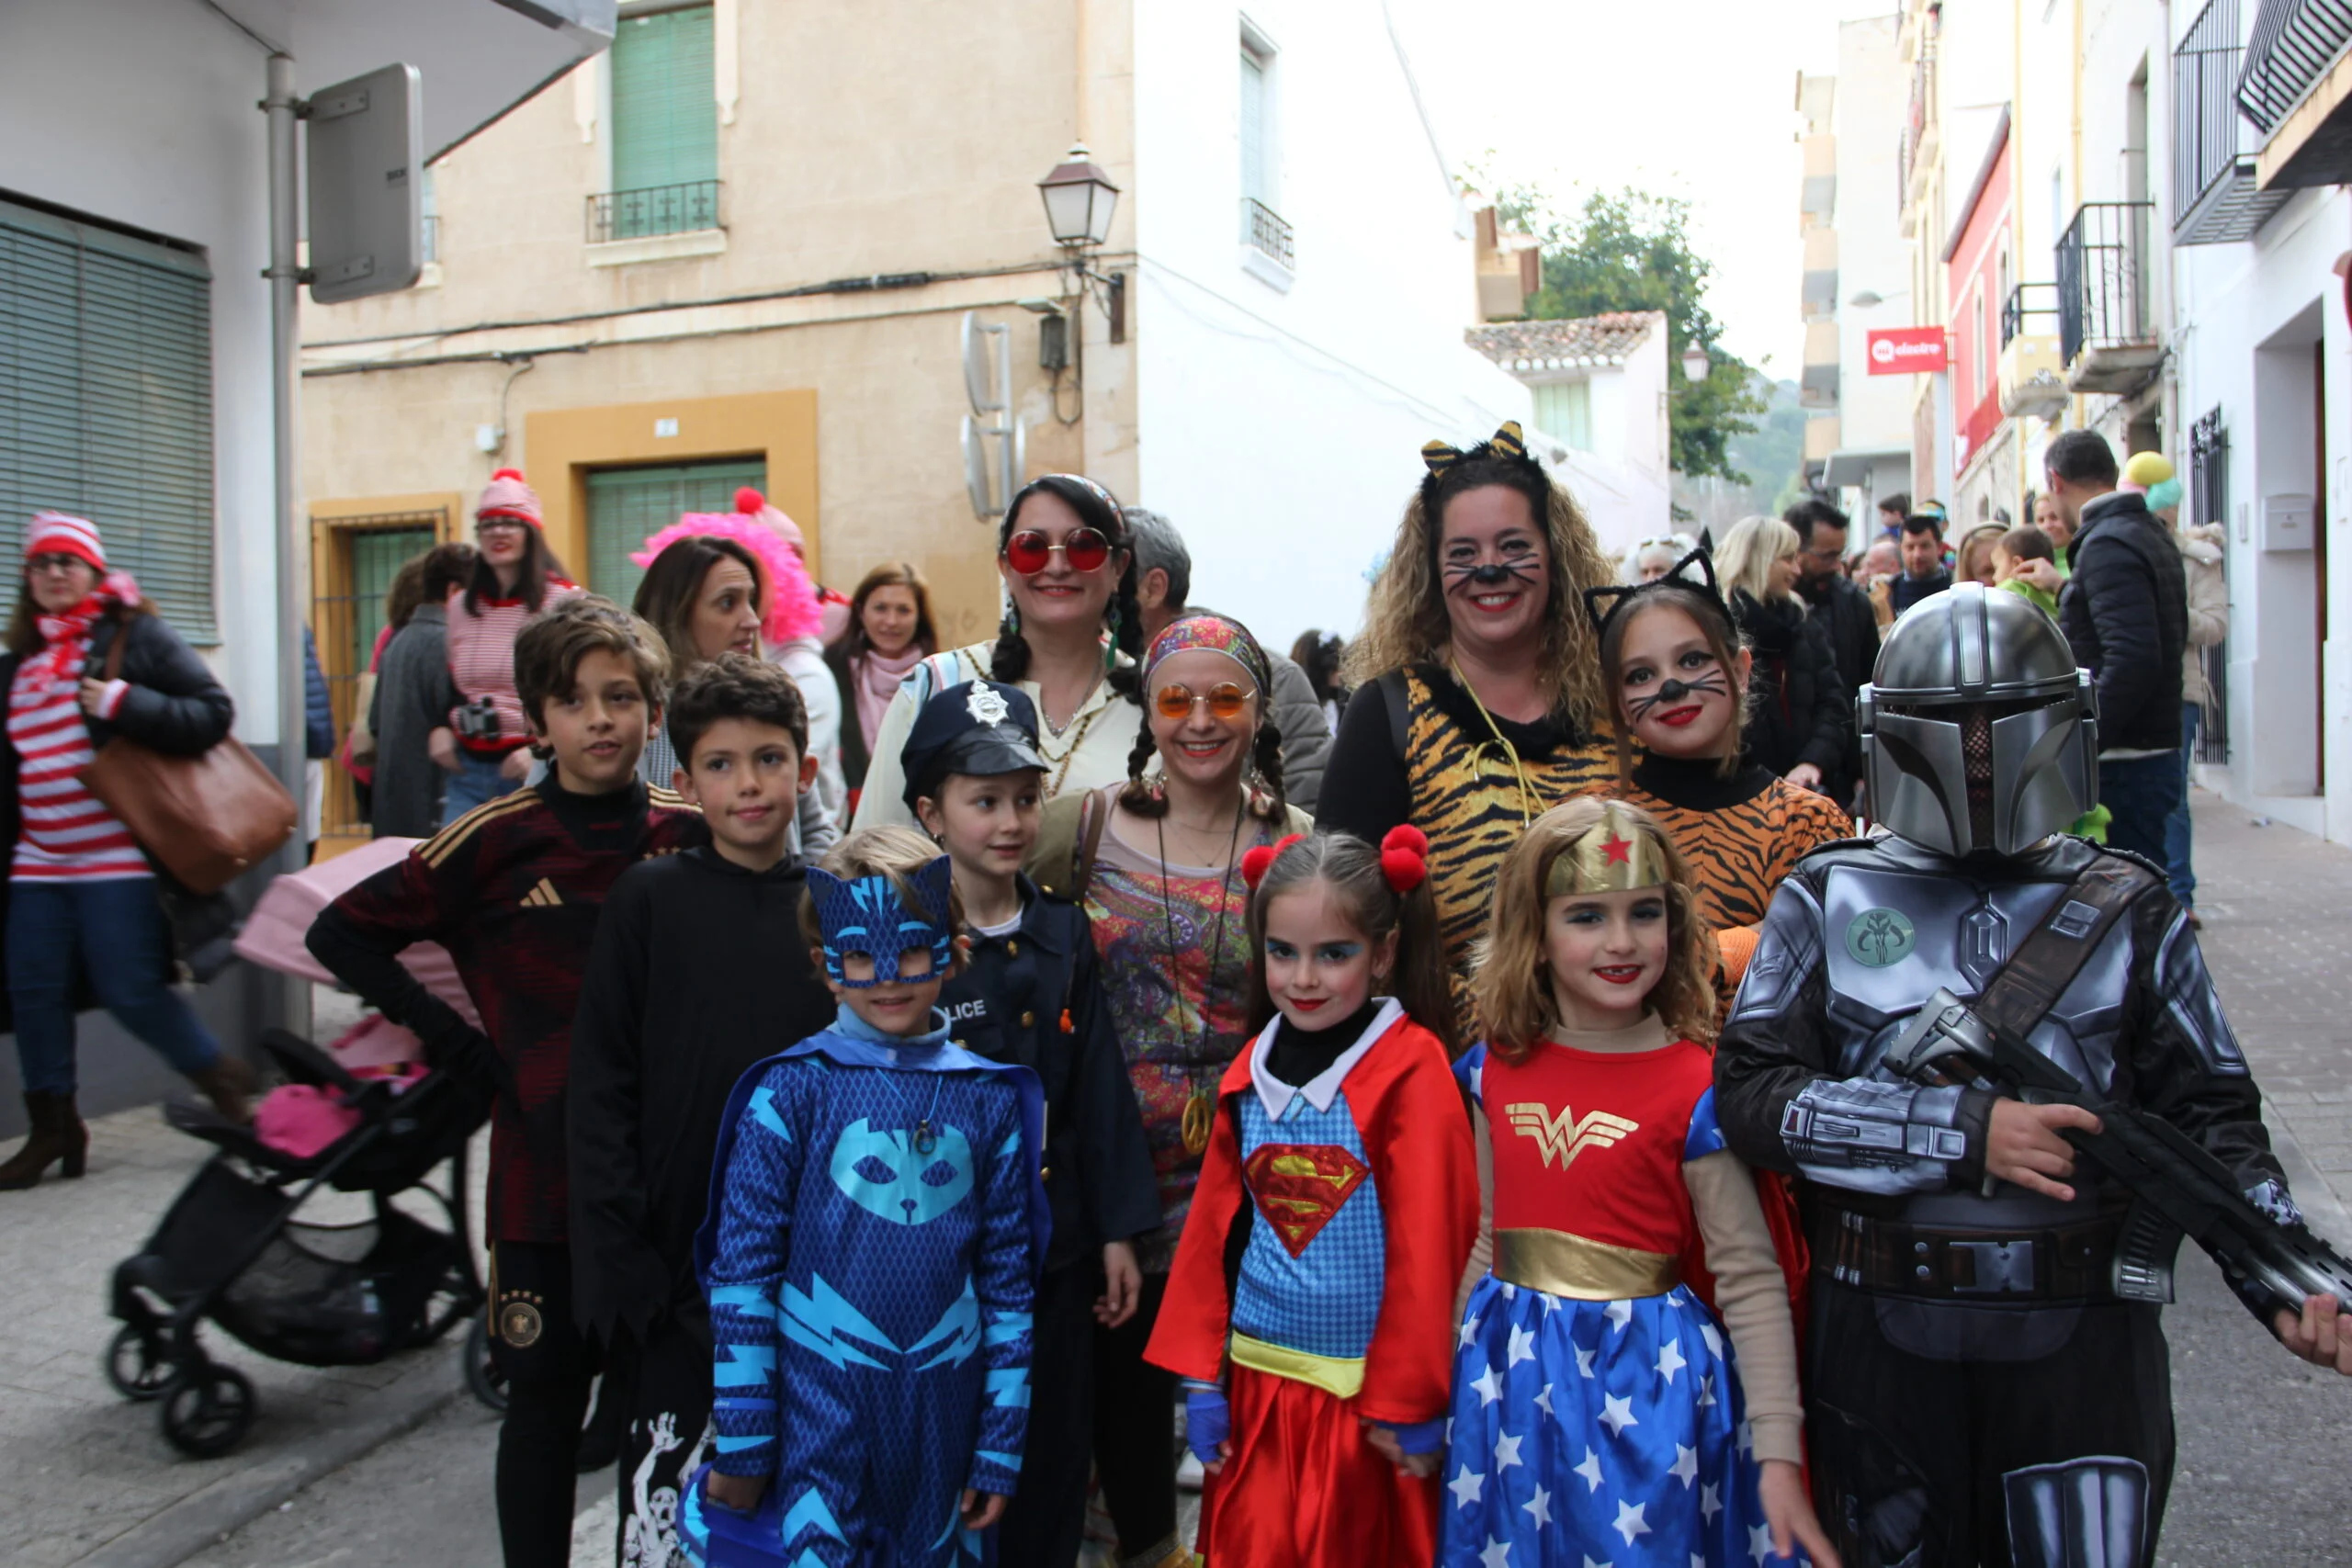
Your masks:
M1272 668L1223 616L1183 616L1143 663L1143 724L1120 780L1047 804L1028 872L1094 926L1103 994L1143 1110L1162 1229L1136 1239L1143 1295L1094 1335L1094 1467L1120 1563L1183 1561L1176 1542L1176 1378L1143 1361L1183 1234L1216 1086L1249 1034L1249 884L1242 858L1315 827L1282 799ZM1160 771L1150 773L1157 759Z

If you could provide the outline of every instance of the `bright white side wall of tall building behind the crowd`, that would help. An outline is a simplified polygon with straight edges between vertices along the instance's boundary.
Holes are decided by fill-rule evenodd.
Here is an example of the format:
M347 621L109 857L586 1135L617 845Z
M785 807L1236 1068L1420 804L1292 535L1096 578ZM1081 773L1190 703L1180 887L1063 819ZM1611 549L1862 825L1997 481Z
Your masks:
M1192 595L1268 646L1352 632L1421 442L1531 418L1463 341L1468 212L1378 7L1254 0L1275 47L1275 209L1296 275L1244 268L1242 12L1136 2L1134 503L1192 550Z

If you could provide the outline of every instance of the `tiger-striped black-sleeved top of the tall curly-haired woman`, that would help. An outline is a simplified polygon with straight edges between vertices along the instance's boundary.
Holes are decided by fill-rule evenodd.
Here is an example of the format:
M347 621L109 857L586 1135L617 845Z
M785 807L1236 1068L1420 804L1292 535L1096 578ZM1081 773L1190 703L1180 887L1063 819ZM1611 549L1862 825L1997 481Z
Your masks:
M1404 733L1392 715L1402 712ZM1526 795L1501 731L1526 771ZM1341 715L1315 820L1378 844L1397 823L1430 835L1430 889L1444 936L1463 1039L1470 1013L1470 943L1486 931L1494 875L1526 825L1588 785L1616 778L1609 736L1590 738L1564 719L1494 726L1446 670L1411 665L1362 686Z

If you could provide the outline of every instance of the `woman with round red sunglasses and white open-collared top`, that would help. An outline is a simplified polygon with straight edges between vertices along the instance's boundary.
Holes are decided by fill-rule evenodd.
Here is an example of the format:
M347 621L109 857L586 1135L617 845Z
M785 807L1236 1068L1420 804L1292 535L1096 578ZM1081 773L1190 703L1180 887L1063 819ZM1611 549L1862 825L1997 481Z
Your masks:
M882 712L856 827L915 825L906 736L936 691L971 679L1021 686L1037 705L1044 799L1127 776L1143 614L1120 503L1084 475L1030 480L997 524L997 574L1011 597L997 639L924 658Z

